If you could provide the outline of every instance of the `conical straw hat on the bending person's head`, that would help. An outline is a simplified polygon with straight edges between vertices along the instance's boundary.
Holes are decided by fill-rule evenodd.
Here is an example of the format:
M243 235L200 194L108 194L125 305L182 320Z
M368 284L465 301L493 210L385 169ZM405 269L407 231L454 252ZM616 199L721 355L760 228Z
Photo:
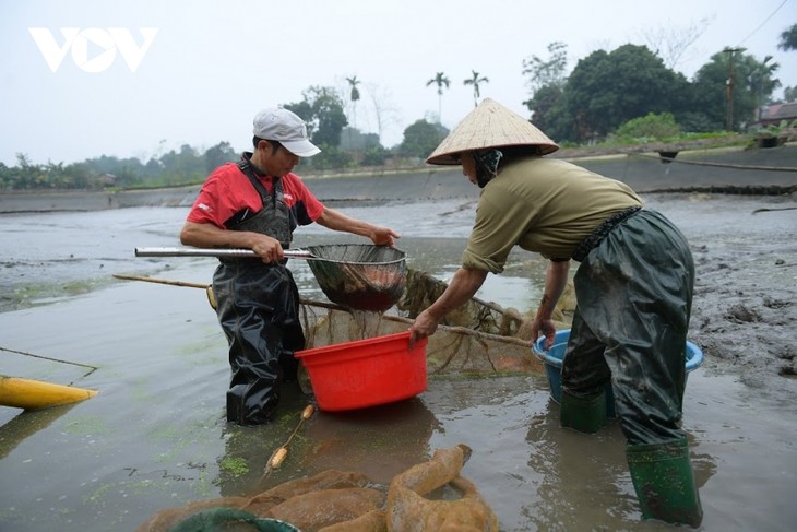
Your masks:
M496 102L485 98L467 115L426 159L429 164L459 164L457 152L496 146L539 146L540 155L554 153L559 145L532 122Z

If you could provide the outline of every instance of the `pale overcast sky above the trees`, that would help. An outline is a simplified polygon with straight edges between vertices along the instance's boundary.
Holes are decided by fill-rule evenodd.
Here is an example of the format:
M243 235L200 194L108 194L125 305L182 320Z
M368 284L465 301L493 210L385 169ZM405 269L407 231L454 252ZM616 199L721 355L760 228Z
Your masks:
M348 94L350 76L361 99L349 122L380 132L376 98L392 146L437 117L427 86L437 72L451 81L448 128L473 109L463 85L473 70L489 79L483 97L526 116L523 59L547 59L550 43L568 45L570 72L597 49L694 27L675 66L687 78L745 47L760 61L774 56L783 85L795 86L797 51L777 49L795 23L797 0L0 0L0 162L147 161L222 141L241 151L258 110L300 102L311 85Z

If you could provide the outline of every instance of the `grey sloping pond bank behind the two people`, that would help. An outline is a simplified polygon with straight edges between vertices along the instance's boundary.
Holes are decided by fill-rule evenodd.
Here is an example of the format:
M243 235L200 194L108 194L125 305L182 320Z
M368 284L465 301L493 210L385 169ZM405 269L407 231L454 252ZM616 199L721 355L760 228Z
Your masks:
M670 152L561 150L551 155L606 177L628 182L638 192L711 192L784 194L797 191L797 144L772 149L706 149ZM301 167L297 173L302 175ZM325 202L414 201L476 198L478 189L459 167L373 170L356 175L304 176ZM0 214L97 211L128 206L190 206L199 185L153 190L36 191L0 193Z

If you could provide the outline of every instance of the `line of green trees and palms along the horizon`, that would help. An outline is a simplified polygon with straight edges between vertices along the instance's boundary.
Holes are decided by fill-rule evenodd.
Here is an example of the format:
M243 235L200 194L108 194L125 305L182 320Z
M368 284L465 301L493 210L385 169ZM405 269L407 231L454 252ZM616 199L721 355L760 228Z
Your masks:
M797 24L780 35L778 48L797 50ZM671 48L670 48L671 49ZM649 46L623 45L612 51L596 50L568 72L567 45L551 43L548 57L523 60L533 123L562 145L611 142L635 137L640 141L673 140L682 134L721 131L744 132L752 127L760 109L775 103L782 86L775 76L780 66L744 48L726 48L713 55L692 80L668 66L662 54ZM298 102L283 104L308 123L308 133L322 152L302 161L305 172L358 167L405 166L423 162L448 130L440 109L451 81L437 72L426 82L436 88L437 119L421 118L404 130L397 146L388 149L379 134L357 129L361 98L356 75L346 78L347 91L313 85ZM478 105L489 79L476 70L463 80ZM785 87L785 101L797 99L797 87ZM380 107L373 98L377 122ZM666 137L666 138L665 138ZM166 187L201 182L215 167L240 156L228 142L200 152L182 145L147 162L100 156L82 163L35 164L17 154L15 166L0 163L0 190L97 189L107 187Z

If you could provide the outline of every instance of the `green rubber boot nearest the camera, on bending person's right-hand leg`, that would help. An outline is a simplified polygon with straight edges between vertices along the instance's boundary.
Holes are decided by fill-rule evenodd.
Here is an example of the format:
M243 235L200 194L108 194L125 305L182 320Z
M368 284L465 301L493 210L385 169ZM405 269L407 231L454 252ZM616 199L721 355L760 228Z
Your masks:
M628 446L626 456L644 519L700 525L703 508L686 439Z

